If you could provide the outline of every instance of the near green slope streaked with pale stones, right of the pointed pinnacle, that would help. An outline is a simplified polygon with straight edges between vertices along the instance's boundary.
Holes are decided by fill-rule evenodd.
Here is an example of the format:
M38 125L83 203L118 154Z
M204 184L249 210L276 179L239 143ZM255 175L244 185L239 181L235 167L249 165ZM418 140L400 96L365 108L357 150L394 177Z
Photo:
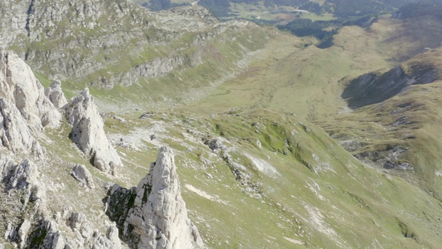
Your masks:
M173 147L189 215L211 248L436 248L440 243L436 234L442 231L432 225L442 215L439 201L401 178L361 165L327 133L294 116L254 109L211 118L186 112L126 118L126 123L108 119L108 131L130 140L139 136L136 129L144 129L139 139L147 142L141 151L117 147L126 168L122 184L137 184L158 145ZM162 129L154 131L159 124ZM151 133L155 140L148 138ZM224 138L224 151L244 167L249 185L236 181L231 166L204 145L210 137ZM251 158L279 175L261 172Z

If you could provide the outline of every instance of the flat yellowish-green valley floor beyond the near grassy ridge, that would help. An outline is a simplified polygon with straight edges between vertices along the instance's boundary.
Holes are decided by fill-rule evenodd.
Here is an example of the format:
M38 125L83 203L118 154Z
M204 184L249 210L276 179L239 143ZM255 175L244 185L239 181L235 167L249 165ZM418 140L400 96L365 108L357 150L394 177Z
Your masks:
M279 35L246 71L191 108L206 113L233 107L271 108L310 120L335 114L345 109L340 98L345 77L391 65L373 53L378 35L345 27L335 37L336 46L325 50L304 48L314 42L309 38Z

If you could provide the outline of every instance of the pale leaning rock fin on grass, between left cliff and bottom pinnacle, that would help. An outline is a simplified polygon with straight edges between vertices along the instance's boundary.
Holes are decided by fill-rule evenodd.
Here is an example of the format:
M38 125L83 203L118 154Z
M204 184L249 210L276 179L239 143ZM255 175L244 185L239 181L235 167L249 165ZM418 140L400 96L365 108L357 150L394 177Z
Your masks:
M122 165L117 151L104 133L104 123L99 116L89 89L84 89L64 107L66 120L73 125L71 139L81 151L92 157L92 163L103 172L113 174Z

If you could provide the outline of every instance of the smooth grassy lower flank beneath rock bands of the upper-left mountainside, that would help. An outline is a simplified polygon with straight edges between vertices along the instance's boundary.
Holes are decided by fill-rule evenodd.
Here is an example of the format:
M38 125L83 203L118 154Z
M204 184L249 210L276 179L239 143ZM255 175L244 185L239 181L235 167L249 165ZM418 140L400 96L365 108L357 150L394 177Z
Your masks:
M241 62L244 57L247 58L247 53L264 48L267 39L271 39L274 33L274 30L265 30L253 24L244 29L227 28L221 35L217 35L209 42L202 44L198 51L195 50L195 47L187 48L187 46L193 42L193 37L199 34L188 33L166 46L148 47L145 53L149 54L151 50L155 50L162 51L161 55L166 55L167 51L176 47L184 47L180 53L191 57L198 52L202 56L202 64L176 68L171 73L160 77L141 78L131 86L116 85L110 90L93 87L90 91L97 98L106 102L106 106L112 106L112 109L120 110L169 108L176 104L198 100L207 95L222 79L241 70ZM245 61L247 62L247 59ZM125 64L124 61L119 63ZM115 68L104 68L102 71L108 71L106 74L111 77L110 75L122 73L121 70L122 68L119 68L119 64L117 64ZM63 83L66 96L70 98L76 95L78 91L88 85L88 82L101 77L102 71L92 73L84 78L66 80ZM45 86L50 84L50 80L43 74L37 73L37 77ZM140 93L148 94L140 95Z

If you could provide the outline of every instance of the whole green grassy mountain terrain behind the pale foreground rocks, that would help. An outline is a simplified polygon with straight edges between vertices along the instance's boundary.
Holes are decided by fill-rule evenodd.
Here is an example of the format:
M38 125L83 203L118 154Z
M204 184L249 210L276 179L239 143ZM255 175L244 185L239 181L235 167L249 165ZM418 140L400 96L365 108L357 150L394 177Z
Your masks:
M0 3L1 10L12 2ZM320 8L308 10L316 14L294 15L327 21L302 23L332 38L318 48L324 37L316 33L296 36L236 20L290 13L298 3L232 1L233 21L221 22L200 7L204 0L160 12L98 2L99 18L77 26L68 21L81 17L75 6L62 11L68 19L44 26L50 18L41 13L59 9L49 1L33 7L43 28L0 26L1 34L15 34L2 46L30 64L41 84L61 79L68 99L89 86L124 165L114 176L94 168L70 141L66 120L46 129L38 139L50 166L41 167L41 178L56 186L47 194L48 215L70 205L105 229L109 185L136 186L166 145L207 248L440 247L439 5L314 1ZM190 2L157 1L155 8ZM344 24L354 17L349 12L370 18ZM395 14L374 18L384 12ZM276 20L267 14L259 16ZM292 17L280 17L288 28ZM100 187L80 189L66 167L72 163L86 165ZM10 215L18 223L30 213Z

